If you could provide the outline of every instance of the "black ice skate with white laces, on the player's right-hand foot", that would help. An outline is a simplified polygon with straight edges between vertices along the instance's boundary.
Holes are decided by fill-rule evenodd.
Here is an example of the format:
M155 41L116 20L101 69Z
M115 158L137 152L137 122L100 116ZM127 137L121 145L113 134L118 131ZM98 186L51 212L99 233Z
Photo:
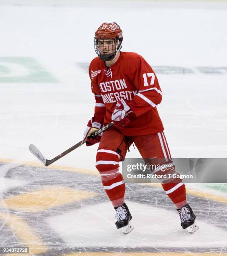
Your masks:
M194 215L191 207L186 204L181 209L176 210L178 211L181 218L181 227L186 229L190 234L195 233L199 229L199 226L195 222L196 215Z

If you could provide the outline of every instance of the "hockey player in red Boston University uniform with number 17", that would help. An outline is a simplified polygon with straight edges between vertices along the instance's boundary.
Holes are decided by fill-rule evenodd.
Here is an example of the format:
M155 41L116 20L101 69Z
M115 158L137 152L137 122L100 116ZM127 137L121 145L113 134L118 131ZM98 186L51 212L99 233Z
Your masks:
M89 66L94 117L88 122L83 141L87 146L99 142L96 168L116 210L116 227L127 234L133 230L132 216L124 200L125 184L119 161L134 142L143 159L155 164L173 162L156 108L162 99L156 74L142 56L120 51L122 40L122 30L115 22L103 23L95 32L94 49L98 57ZM102 137L91 136L112 121L114 127ZM187 204L182 180L167 179L162 181L162 187L179 212L182 228L194 233L198 229L196 216Z

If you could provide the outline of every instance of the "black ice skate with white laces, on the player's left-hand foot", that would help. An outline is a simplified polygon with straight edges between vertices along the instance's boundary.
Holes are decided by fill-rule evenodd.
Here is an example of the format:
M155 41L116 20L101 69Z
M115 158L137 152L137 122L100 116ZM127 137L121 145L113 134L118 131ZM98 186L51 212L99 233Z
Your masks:
M116 210L116 227L121 229L126 235L133 230L132 215L130 214L127 205L124 203L121 206L115 207Z

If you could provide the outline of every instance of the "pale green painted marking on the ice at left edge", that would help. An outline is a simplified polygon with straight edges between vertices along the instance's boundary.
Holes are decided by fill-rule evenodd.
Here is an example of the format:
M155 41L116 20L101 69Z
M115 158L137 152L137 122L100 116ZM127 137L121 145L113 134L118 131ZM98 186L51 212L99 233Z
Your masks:
M0 57L0 83L56 83L32 57Z

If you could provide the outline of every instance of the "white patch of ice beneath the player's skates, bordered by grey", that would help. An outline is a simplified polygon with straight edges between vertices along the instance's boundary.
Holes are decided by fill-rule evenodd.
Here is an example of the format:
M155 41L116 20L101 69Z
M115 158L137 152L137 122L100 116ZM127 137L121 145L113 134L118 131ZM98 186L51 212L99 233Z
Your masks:
M79 210L50 218L48 222L69 247L103 247L107 244L110 247L162 247L163 232L165 238L168 238L165 240L166 247L176 248L179 244L181 247L226 245L227 233L222 228L198 221L199 232L189 236L180 226L176 228L179 218L177 212L150 205L141 207L141 204L130 201L127 201L127 205L133 214L134 226L133 232L128 236L118 233L115 229L113 209L109 202L84 206ZM105 209L105 212L102 209ZM93 236L92 230L95 230ZM84 239L86 237L89 239ZM115 239L112 240L111 237Z

